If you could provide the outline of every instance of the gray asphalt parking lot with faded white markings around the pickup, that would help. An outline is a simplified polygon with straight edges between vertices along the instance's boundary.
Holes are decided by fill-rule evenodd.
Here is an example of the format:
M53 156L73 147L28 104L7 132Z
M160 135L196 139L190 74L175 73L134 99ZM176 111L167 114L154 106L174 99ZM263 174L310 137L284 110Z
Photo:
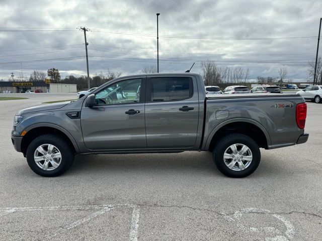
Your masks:
M307 103L307 143L261 150L247 178L206 152L78 155L44 178L13 148L14 114L75 94L29 97L0 101L1 240L321 240L322 104Z

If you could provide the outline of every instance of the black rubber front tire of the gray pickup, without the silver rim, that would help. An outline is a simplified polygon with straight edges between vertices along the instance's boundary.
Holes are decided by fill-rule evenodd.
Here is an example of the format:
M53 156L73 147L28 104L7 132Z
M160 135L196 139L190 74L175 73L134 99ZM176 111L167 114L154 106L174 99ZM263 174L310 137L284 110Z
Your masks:
M53 170L43 170L40 168L34 159L36 149L44 144L51 144L57 147L61 154L61 161L59 166ZM31 170L43 177L56 177L67 171L74 160L74 149L61 136L55 134L46 134L34 139L27 149L27 162Z

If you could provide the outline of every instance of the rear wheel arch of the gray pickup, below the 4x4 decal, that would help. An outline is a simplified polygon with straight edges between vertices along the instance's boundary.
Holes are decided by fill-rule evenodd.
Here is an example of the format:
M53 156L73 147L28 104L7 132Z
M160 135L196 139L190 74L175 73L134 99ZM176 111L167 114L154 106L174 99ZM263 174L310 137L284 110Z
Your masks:
M260 147L268 149L271 146L271 138L266 128L260 123L246 118L229 119L217 127L209 134L204 150L211 151L222 136L230 133L240 133L254 139Z

